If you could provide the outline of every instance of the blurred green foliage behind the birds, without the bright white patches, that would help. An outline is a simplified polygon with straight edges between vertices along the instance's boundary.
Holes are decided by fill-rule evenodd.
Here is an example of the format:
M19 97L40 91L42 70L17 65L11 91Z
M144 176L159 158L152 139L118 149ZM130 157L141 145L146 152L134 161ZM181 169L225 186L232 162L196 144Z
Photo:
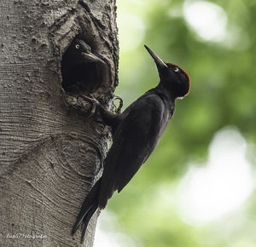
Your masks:
M143 49L143 43L166 62L182 66L192 85L189 96L177 101L174 118L154 153L124 191L113 196L108 210L116 212L128 235L139 238L147 247L256 246L252 233L255 221L250 221L248 229L244 225L237 227L235 235L222 236L221 227L215 223L204 227L186 225L175 208L166 208L154 198L159 185L177 185L189 162L206 160L208 145L218 129L235 125L247 141L256 142L256 2L211 2L223 8L228 18L230 37L219 42L199 37L189 26L183 16L186 3L118 1L118 14L134 14L145 26L143 42L135 49L123 51L120 47L116 95L124 99L125 106L159 82L154 62ZM120 35L121 44L122 38L125 37ZM256 213L255 204L254 196L245 214Z

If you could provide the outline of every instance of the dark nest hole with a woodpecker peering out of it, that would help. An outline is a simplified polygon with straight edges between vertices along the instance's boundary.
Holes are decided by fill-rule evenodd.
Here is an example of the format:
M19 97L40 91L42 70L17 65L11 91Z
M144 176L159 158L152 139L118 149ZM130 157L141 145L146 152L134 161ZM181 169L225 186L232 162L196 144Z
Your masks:
M87 43L75 38L62 56L62 88L72 95L95 92L102 83L104 64Z

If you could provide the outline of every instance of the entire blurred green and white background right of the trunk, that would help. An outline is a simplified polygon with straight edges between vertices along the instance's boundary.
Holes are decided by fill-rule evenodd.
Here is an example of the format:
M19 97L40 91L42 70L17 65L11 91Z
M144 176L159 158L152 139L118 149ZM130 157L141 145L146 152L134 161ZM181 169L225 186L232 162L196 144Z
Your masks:
M125 106L158 82L146 43L185 69L189 96L109 201L96 247L256 246L256 1L117 0Z

